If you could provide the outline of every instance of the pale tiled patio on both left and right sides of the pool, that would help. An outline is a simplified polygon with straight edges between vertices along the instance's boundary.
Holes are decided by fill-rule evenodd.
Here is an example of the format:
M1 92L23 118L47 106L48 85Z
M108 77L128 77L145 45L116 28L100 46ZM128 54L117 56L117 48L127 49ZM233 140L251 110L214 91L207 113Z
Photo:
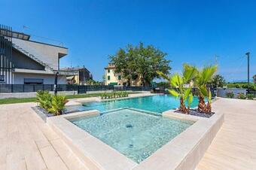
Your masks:
M0 105L0 169L88 169L34 105ZM225 122L197 169L256 169L256 102L219 99L212 107Z

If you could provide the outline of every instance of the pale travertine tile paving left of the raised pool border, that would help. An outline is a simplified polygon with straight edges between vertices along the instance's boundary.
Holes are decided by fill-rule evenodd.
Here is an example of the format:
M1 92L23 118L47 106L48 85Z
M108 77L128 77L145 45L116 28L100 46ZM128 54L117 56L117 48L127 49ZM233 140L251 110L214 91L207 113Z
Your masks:
M0 105L0 169L88 168L32 111L34 103Z

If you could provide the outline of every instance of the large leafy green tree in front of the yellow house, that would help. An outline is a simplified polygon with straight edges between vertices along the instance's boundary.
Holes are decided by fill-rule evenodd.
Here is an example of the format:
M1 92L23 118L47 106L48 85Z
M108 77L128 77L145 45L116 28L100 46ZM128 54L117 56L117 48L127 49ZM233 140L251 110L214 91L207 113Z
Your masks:
M151 83L154 78L159 78L157 71L169 74L169 60L165 59L167 54L159 49L142 43L138 46L127 45L125 49L120 48L116 54L110 56L111 63L115 65L115 73L122 74L128 86L131 80L141 78L143 86Z

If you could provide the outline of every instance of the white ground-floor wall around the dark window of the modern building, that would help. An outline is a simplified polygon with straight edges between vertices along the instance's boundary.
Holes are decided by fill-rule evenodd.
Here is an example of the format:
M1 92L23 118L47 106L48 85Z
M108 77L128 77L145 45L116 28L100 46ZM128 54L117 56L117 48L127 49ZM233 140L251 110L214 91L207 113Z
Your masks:
M14 74L14 84L23 84L24 78L40 78L44 79L44 84L54 84L55 75L54 74ZM66 84L66 75L58 76L58 84Z

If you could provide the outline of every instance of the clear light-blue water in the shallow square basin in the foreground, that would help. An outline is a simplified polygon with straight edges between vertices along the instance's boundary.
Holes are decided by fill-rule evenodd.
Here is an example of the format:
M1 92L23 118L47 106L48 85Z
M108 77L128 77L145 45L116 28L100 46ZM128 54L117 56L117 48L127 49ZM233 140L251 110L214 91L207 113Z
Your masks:
M194 123L127 108L70 121L137 163Z

